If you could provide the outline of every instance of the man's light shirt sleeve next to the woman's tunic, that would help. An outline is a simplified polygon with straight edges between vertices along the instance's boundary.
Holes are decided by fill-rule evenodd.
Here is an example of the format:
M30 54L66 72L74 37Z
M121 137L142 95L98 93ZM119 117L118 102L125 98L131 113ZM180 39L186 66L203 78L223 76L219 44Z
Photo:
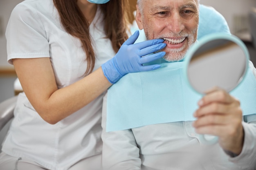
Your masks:
M132 130L106 132L106 102L103 97L102 123L103 140L102 165L104 170L141 170L141 159ZM120 113L121 114L121 113Z

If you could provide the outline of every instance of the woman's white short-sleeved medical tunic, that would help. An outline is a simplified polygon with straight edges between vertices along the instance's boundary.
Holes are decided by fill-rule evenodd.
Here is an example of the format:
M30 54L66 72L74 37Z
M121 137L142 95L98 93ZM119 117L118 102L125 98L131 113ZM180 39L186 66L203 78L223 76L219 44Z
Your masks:
M104 38L102 18L98 7L90 24L96 53L94 70L115 55L110 40ZM63 29L52 0L25 0L18 4L11 13L6 37L9 63L13 58L49 57L58 88L85 77L87 62L81 42ZM103 94L52 125L36 113L25 93L21 93L2 151L34 160L50 170L67 170L83 158L101 154L102 100Z

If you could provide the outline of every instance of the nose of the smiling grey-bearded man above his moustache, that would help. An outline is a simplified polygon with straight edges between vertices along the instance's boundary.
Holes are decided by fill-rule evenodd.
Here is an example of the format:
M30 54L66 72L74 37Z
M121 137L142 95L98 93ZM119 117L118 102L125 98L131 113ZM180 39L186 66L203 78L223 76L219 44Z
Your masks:
M168 29L175 34L180 33L185 28L182 16L180 16L179 13L173 13L170 16L170 19L168 20L167 24Z

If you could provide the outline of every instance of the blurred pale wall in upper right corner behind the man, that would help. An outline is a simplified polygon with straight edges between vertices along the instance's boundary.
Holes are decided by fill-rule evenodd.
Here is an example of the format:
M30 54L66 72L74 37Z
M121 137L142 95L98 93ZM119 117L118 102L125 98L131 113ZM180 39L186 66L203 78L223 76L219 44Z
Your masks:
M251 7L256 7L256 0L200 0L201 4L214 7L227 20L231 33L236 32L235 16L247 16ZM244 24L247 24L245 19Z

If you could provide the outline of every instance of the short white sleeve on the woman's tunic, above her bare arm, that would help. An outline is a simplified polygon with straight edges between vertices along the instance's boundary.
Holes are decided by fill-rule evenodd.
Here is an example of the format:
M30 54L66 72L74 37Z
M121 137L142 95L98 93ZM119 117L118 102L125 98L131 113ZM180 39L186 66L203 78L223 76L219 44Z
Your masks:
M46 31L34 8L18 4L11 13L6 30L10 64L13 58L49 57Z

